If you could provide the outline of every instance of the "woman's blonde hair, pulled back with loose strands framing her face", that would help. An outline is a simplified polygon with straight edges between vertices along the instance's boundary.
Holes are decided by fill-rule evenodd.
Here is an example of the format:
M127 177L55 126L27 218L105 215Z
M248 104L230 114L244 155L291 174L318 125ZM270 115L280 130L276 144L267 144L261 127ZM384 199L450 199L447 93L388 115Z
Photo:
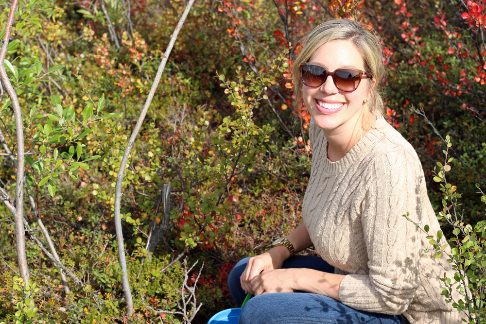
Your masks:
M377 36L364 28L360 23L349 19L330 19L312 30L297 46L302 49L295 56L292 78L294 79L295 106L302 100L302 80L300 64L307 62L312 54L323 44L333 40L347 40L360 52L364 69L376 80L373 86L372 78L366 78L367 87L371 92L367 102L368 110L376 118L383 117L383 100L381 89L385 74L383 64L382 44Z

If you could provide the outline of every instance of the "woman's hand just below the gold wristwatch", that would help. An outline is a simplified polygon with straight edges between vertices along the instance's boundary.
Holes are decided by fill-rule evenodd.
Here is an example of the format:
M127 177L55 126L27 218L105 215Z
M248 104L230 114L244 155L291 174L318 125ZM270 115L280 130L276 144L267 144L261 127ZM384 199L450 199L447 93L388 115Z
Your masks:
M283 261L289 256L289 250L285 246L280 245L270 249L268 252L260 254L259 256L251 257L240 277L242 289L245 292L255 294L251 280L263 271L280 269Z

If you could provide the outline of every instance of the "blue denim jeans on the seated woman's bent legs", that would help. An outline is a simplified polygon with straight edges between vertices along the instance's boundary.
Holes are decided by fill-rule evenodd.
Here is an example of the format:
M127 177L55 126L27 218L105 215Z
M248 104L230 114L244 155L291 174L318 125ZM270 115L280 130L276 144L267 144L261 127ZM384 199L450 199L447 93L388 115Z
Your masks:
M240 276L249 258L236 264L228 277L233 299L241 306L246 296ZM318 256L293 256L282 268L309 268L334 273ZM252 297L243 307L239 324L400 324L399 316L357 310L335 299L308 292L268 293Z

